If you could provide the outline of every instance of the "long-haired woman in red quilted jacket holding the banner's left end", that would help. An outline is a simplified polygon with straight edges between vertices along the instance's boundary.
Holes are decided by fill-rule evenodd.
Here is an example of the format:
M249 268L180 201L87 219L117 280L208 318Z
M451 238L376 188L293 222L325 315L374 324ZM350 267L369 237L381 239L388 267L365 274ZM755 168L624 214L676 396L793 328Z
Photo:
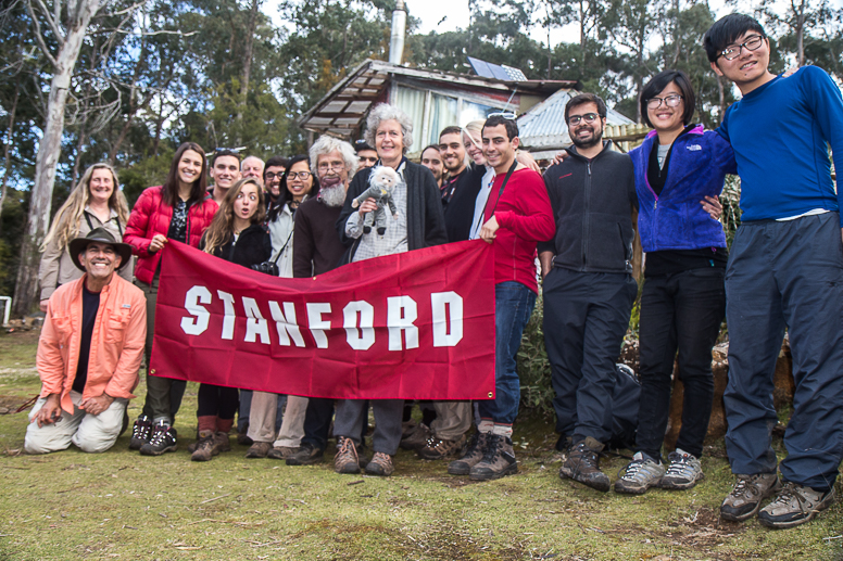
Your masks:
M176 430L172 424L186 383L149 375L149 361L162 251L169 240L199 247L199 240L218 208L207 195L205 167L205 155L199 144L185 142L178 146L166 181L140 194L123 237L138 256L135 282L147 296L147 401L142 415L135 421L129 444L130 449L140 449L144 456L176 449Z

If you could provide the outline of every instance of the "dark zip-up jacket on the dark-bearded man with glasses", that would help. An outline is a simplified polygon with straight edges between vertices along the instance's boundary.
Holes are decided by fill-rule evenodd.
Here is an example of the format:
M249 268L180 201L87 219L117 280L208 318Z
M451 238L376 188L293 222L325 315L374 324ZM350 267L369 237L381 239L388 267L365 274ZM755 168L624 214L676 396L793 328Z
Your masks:
M593 160L576 146L544 173L556 235L539 243L552 252L554 267L582 272L632 272L632 209L638 207L632 160L611 149Z

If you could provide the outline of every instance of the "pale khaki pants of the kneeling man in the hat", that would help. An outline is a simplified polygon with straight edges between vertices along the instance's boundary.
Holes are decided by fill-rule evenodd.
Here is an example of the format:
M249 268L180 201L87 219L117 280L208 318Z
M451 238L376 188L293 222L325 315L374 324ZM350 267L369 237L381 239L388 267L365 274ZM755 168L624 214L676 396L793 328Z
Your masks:
M86 413L79 409L81 394L71 392L73 415L62 411L62 419L52 424L38 426L32 422L35 416L47 403L41 397L29 411L29 425L26 428L24 449L27 454L48 454L65 450L75 444L81 451L102 452L114 446L123 429L123 416L126 412L128 399L117 398L100 415Z

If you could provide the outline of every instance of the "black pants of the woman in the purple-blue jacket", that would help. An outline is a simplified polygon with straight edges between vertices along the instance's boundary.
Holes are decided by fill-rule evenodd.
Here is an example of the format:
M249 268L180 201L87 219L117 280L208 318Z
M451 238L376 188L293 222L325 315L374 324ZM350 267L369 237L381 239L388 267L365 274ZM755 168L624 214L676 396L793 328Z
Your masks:
M674 361L679 350L682 429L677 448L703 454L714 398L712 347L726 316L726 269L691 269L647 277L639 332L641 401L637 448L658 458L670 409Z

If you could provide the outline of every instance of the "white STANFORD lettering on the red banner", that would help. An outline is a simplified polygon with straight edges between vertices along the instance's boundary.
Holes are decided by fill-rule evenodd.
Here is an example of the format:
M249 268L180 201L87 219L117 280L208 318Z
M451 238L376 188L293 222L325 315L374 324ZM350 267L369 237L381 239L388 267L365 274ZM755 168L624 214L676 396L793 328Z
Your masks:
M237 314L235 297L221 290L216 291L223 302L222 339L234 340ZM268 320L263 317L255 298L241 297L243 315L246 316L246 335L248 343L272 344ZM192 286L185 295L185 310L189 316L181 318L181 331L188 335L201 335L207 330L211 313L203 304L212 304L213 295L205 286ZM433 292L430 294L430 311L432 317L433 347L453 347L463 340L463 297L456 292ZM268 302L269 313L278 332L278 343L290 346L290 341L297 347L304 347L300 326L295 318L295 306L292 302ZM331 305L325 302L304 303L307 316L306 329L310 329L317 348L328 348L330 318L323 316L331 313ZM284 311L281 311L284 307ZM410 296L387 297L387 328L389 332L389 350L418 348L418 306ZM375 344L375 307L366 301L350 302L342 309L342 327L345 329L345 341L354 350L368 350Z

